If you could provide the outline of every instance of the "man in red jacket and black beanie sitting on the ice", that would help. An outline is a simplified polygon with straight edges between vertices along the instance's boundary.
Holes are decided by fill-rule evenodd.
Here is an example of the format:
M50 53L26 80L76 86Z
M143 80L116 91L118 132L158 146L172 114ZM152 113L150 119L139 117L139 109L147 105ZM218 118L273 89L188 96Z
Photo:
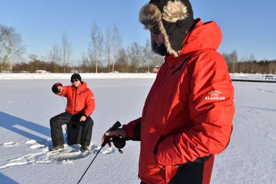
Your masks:
M63 149L64 140L61 125L70 122L78 122L81 127L81 151L89 152L94 125L90 115L95 110L95 98L85 81L81 81L79 74L72 74L72 85L63 86L61 83L52 85L52 92L67 99L66 112L58 114L50 119L53 147L50 151Z

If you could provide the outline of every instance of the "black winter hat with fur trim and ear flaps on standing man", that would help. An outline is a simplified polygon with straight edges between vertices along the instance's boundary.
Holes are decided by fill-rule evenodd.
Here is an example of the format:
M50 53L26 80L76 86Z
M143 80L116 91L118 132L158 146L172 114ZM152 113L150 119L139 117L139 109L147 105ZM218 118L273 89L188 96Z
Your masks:
M146 30L157 28L164 35L168 54L179 56L182 41L193 25L193 9L189 0L151 0L142 6L139 22ZM153 52L157 43L151 41Z

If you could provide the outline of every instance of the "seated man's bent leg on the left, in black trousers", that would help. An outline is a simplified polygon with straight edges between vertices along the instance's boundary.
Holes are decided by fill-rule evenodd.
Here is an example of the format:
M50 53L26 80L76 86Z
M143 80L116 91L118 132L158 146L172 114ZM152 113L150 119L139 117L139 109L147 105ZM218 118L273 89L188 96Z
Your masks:
M51 137L53 147L61 146L64 144L62 126L70 122L71 114L63 112L50 119Z

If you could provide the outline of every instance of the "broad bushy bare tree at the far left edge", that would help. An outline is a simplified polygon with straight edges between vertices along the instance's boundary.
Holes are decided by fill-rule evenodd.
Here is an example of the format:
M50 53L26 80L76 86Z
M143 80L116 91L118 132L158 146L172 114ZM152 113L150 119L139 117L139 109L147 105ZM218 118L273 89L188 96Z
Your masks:
M0 25L0 72L6 62L9 61L10 70L12 70L12 61L21 57L26 50L22 45L21 34L13 27Z

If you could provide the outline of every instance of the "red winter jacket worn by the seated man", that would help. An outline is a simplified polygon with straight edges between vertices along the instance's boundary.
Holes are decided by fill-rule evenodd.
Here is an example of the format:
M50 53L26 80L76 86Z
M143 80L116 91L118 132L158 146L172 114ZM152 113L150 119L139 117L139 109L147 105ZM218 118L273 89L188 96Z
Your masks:
M61 83L55 83L53 87L58 85L62 86ZM84 81L81 82L78 88L75 88L74 85L62 86L61 94L59 92L55 94L66 97L66 111L70 114L82 114L88 117L95 110L94 94L87 88L87 84Z

